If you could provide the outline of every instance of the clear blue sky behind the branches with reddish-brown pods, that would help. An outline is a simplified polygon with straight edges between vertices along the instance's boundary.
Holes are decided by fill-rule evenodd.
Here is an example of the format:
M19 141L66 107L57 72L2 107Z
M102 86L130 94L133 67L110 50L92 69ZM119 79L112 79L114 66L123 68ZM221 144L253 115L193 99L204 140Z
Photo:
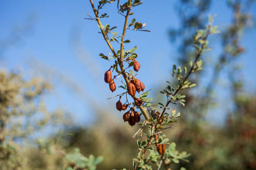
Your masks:
M126 49L139 46L138 61L142 66L138 78L145 84L146 90L164 88L165 80L170 79L172 64L176 62L176 48L168 37L169 28L179 27L175 5L177 1L145 1L134 8L135 14L130 18L146 23L146 29L151 30L151 33L128 31L126 38L131 43L125 46ZM250 11L256 16L255 3ZM110 15L102 19L103 24L116 25L116 31L121 32L123 17L117 14L116 5L106 5L100 12ZM52 75L57 91L47 98L49 108L59 106L72 111L79 124L90 122L94 102L101 103L102 107L114 108L117 99L105 99L122 92L118 90L112 94L104 82L104 73L114 61L109 62L98 56L99 53L108 54L109 49L97 33L97 23L84 19L88 17L86 13L93 16L90 3L85 0L0 1L0 42L4 42L0 44L0 66L8 69L22 67L25 73ZM210 14L217 14L214 24L220 29L230 22L230 11L223 0L213 1ZM242 44L246 53L241 58L246 83L253 84L250 90L254 92L255 28L254 25L243 35ZM19 35L19 32L22 34ZM6 44L7 38L12 40L9 44ZM119 45L115 43L114 46ZM33 67L39 66L44 69L34 71ZM59 83L60 79L69 83L63 86ZM121 83L117 83L117 87L119 85ZM78 88L81 90L74 95L72 90ZM153 93L157 92L154 90ZM121 114L117 115L121 117Z

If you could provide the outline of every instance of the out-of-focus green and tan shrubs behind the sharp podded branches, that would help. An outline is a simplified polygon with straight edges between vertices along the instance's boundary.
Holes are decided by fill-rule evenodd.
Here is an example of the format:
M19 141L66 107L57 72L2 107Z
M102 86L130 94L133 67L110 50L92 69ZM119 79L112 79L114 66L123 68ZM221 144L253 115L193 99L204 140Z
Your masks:
M211 59L204 59L206 71L192 77L198 86L186 92L186 107L176 108L185 113L184 118L178 128L166 134L176 142L177 150L191 156L189 163L173 164L172 169L256 169L256 95L244 90L238 60L246 50L241 39L244 31L250 31L251 3L254 1L227 1L232 18L221 29L220 37L212 40L221 50ZM195 56L192 35L204 28L210 5L211 0L180 0L177 4L181 26L170 29L169 36L171 43L178 44L180 65L188 64ZM61 109L48 111L43 96L52 88L46 78L31 78L22 71L1 68L0 169L94 169L96 165L103 170L131 168L131 160L137 155L136 139L131 137L138 129L123 124L112 109L101 108L100 103L93 103L97 107L96 121L90 126L77 126L71 114ZM160 97L157 94L155 98ZM223 108L223 102L231 107ZM207 119L209 112L224 111L227 116L220 120L224 124ZM61 130L46 137L43 131L51 131L53 126Z

